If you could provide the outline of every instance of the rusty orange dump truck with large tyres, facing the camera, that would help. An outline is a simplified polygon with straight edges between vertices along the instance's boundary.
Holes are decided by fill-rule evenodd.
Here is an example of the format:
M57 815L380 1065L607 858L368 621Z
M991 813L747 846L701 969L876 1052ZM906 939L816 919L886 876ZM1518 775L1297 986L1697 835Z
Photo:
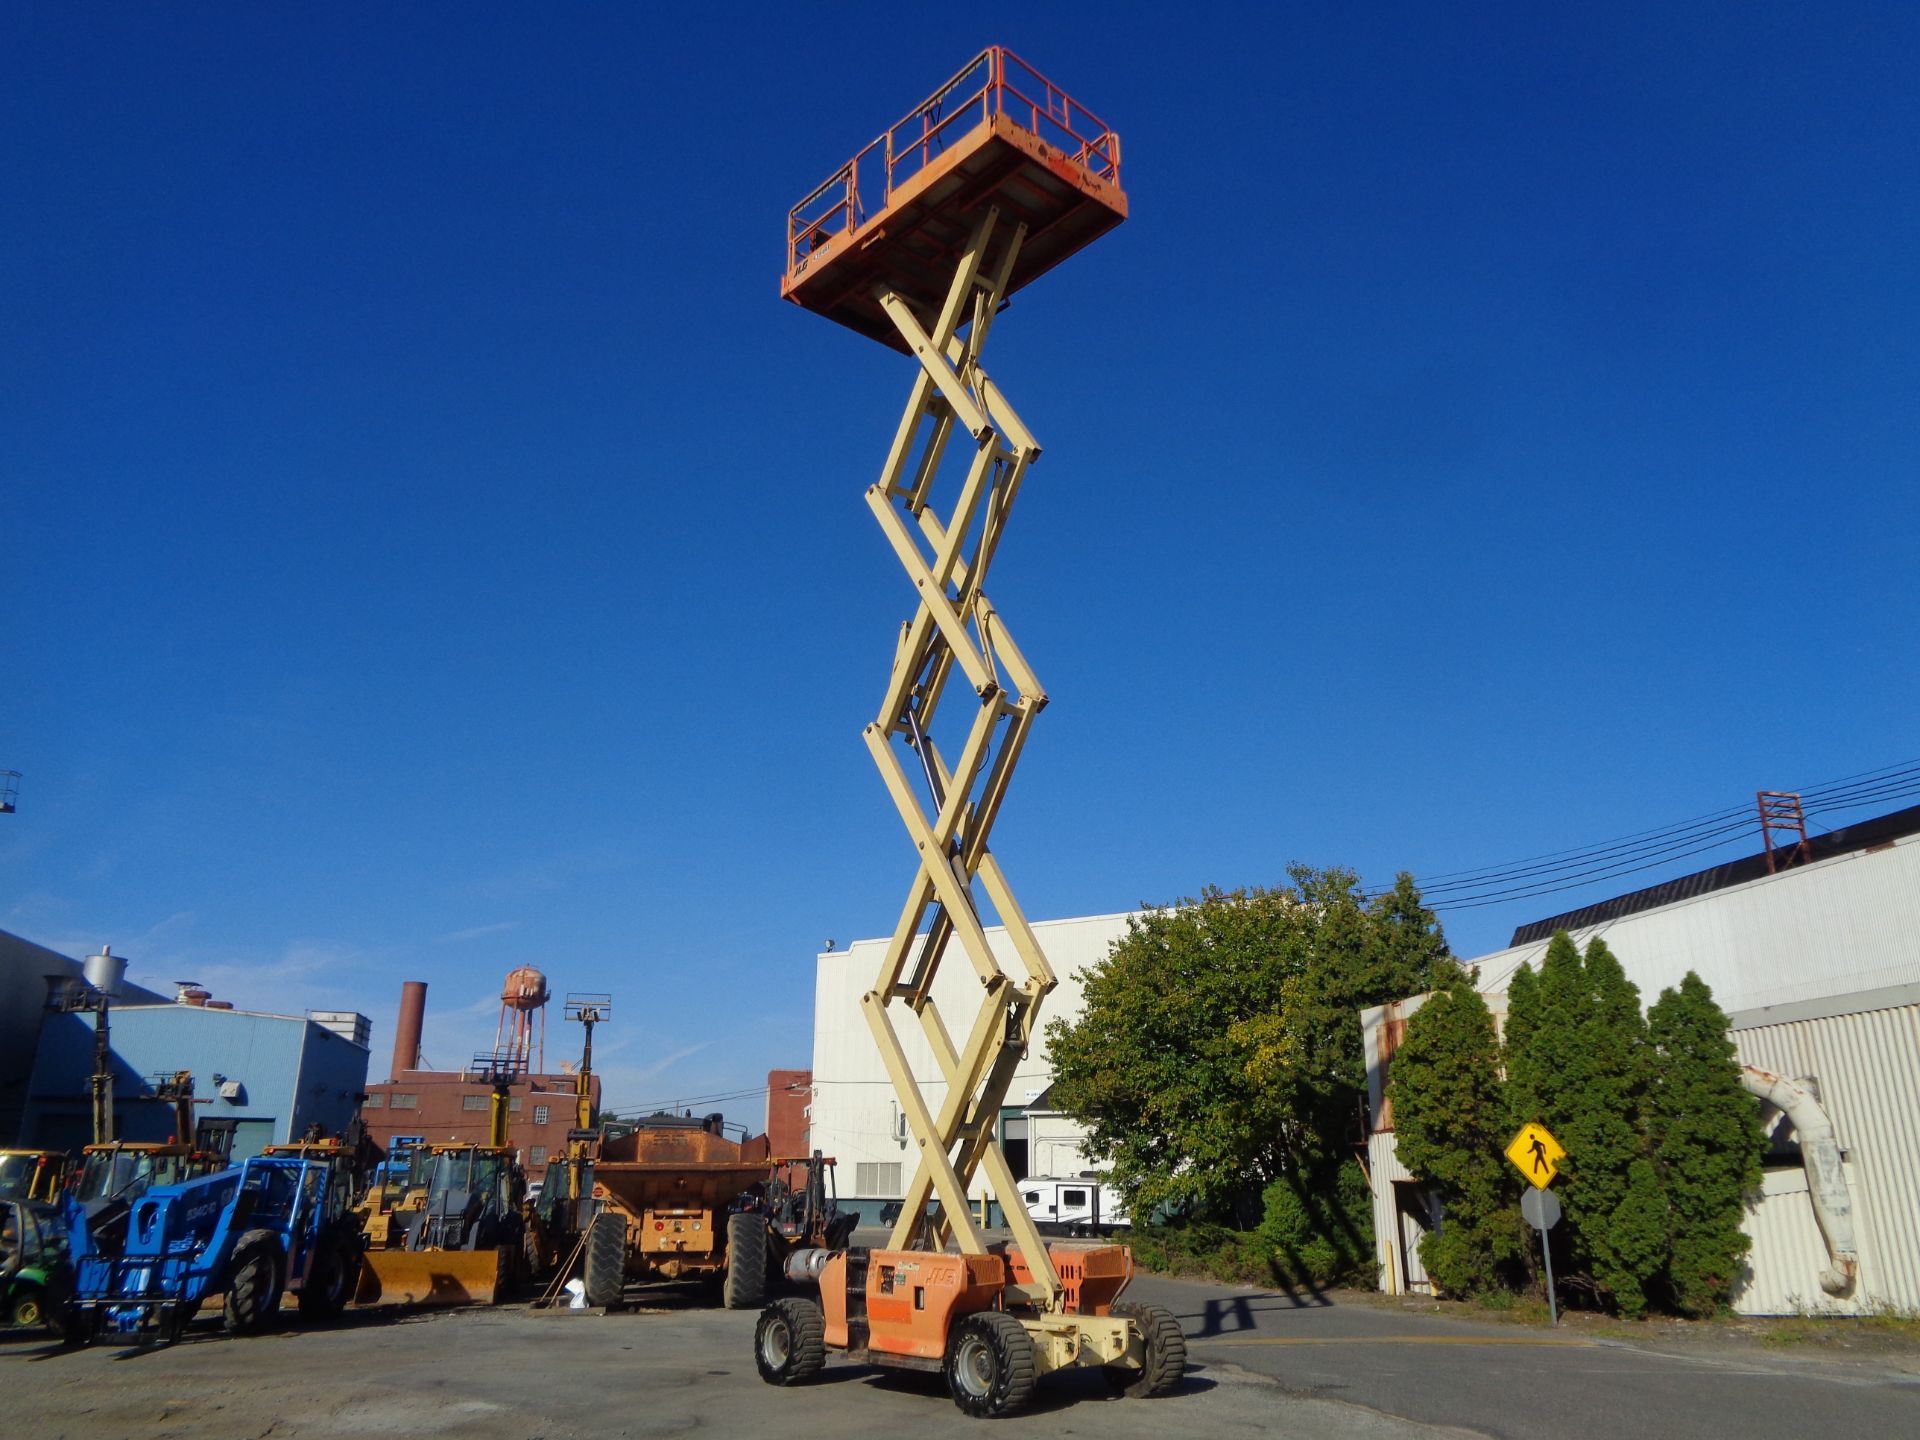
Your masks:
M720 1116L649 1119L574 1164L547 1167L541 1231L553 1263L580 1252L589 1306L618 1306L628 1284L708 1281L728 1309L753 1309L787 1254L845 1244L854 1221L833 1206L831 1160L737 1144Z

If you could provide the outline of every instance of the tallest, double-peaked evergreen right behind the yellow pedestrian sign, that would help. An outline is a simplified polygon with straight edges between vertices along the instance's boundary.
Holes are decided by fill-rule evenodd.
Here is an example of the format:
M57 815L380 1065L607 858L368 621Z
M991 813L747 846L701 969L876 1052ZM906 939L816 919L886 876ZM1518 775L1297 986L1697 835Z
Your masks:
M1640 991L1605 941L1582 958L1559 931L1507 1002L1509 1119L1538 1119L1567 1146L1567 1275L1640 1315L1667 1260L1667 1200L1642 1125L1653 1068Z

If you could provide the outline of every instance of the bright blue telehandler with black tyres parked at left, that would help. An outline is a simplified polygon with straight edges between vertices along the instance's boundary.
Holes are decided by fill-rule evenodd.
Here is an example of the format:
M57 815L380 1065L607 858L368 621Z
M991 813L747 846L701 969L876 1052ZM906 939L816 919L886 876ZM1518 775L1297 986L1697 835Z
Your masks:
M332 1319L353 1298L361 1236L346 1173L324 1162L255 1156L234 1169L157 1185L132 1202L119 1254L73 1231L67 1340L175 1340L211 1294L230 1334L265 1329L294 1294L301 1319Z

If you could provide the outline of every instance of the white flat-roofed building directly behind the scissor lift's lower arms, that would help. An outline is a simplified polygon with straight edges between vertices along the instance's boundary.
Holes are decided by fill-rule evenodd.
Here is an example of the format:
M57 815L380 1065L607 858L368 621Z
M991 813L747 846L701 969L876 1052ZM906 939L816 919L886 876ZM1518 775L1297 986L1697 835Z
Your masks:
M1127 933L1127 916L1044 920L1033 925L1033 933L1060 985L1041 1004L1039 1035L1014 1071L1014 1085L1000 1112L1000 1146L1016 1179L1027 1175L1068 1179L1091 1169L1091 1164L1079 1150L1081 1129L1044 1104L1044 1091L1052 1085L1044 1031L1052 1020L1079 1016L1079 975L1087 966L1104 960L1114 941ZM1025 977L1006 931L998 925L989 927L987 939L1000 968L1016 979ZM879 1060L879 1048L860 1010L860 996L874 989L885 952L885 939L856 941L845 950L820 954L814 972L812 1144L839 1162L843 1204L856 1204L868 1219L879 1213L883 1202L899 1200L906 1192L918 1156L900 1104L895 1100L893 1083ZM979 975L964 958L941 964L933 979L933 1004L948 1029L964 1029L979 1014ZM918 1025L904 1021L899 1033L914 1079L920 1081L927 1102L939 1108L947 1087L933 1050ZM1027 1108L1035 1102L1041 1106L1029 1116ZM973 1198L975 1202L987 1198L983 1179L973 1181Z

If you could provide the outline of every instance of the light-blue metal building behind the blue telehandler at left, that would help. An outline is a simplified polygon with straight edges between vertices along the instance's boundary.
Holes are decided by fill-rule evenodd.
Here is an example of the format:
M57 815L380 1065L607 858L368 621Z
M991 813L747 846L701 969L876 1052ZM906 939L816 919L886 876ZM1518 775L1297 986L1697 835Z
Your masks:
M125 1004L113 1006L109 1021L113 1116L123 1140L173 1133L173 1108L152 1098L152 1079L180 1069L194 1075L196 1125L230 1129L236 1160L309 1125L344 1133L367 1089L367 1046L305 1016ZM23 1144L77 1150L92 1139L92 1016L48 1014L27 1089Z

